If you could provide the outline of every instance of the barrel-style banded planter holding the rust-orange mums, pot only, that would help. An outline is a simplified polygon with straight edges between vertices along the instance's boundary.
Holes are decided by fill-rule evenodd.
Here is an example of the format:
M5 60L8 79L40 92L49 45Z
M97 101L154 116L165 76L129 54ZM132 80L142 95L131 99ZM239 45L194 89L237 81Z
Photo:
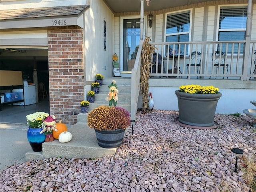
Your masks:
M122 144L125 129L96 130L94 129L98 145L103 148L116 148Z

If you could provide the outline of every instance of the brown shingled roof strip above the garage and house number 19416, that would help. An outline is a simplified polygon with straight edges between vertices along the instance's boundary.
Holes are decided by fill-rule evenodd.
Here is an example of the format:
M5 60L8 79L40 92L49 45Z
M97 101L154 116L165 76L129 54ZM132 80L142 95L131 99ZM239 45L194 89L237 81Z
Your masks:
M89 5L1 10L0 20L78 15Z

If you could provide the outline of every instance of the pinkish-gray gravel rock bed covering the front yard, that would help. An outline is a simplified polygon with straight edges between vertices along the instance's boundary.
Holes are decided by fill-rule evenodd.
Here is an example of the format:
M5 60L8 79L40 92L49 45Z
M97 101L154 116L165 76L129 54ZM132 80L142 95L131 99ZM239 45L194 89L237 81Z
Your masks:
M198 130L175 123L177 111L137 113L113 156L50 158L14 164L0 173L0 191L249 192L232 148L256 154L254 120L215 115L218 128Z

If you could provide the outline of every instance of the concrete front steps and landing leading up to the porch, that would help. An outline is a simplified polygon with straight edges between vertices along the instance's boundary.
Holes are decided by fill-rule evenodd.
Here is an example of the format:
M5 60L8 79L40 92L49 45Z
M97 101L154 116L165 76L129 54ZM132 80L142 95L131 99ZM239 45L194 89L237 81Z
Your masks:
M118 106L131 110L131 78L114 78L118 84L119 98ZM89 111L100 106L108 105L105 97L108 95L108 85L113 78L104 78L103 85L100 86L100 93L96 94L95 102L90 103ZM100 158L106 155L116 153L117 148L102 148L98 145L94 129L87 126L88 114L78 114L77 123L68 128L68 132L72 134L72 140L67 143L60 143L58 140L53 142L44 142L42 144L42 152L34 152L30 150L26 153L26 161L40 160L52 157L62 158ZM128 128L126 129L126 132Z

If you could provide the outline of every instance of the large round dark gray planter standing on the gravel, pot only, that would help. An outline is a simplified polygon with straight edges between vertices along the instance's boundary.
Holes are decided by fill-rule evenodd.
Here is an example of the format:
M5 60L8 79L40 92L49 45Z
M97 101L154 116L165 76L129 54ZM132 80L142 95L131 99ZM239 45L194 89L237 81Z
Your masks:
M178 98L179 119L182 124L199 127L214 126L217 103L222 94L190 94L175 91Z

